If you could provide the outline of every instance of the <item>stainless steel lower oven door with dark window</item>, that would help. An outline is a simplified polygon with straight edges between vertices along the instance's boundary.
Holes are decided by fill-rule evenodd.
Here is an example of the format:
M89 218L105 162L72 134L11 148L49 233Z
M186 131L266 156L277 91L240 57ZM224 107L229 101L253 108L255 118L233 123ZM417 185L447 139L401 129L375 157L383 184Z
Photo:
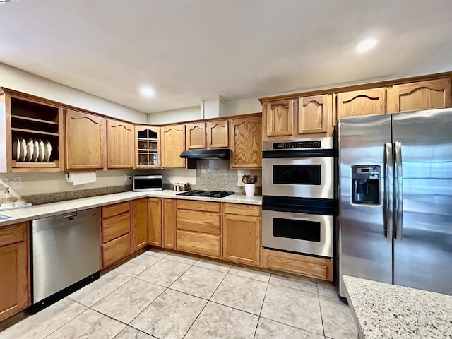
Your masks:
M262 245L333 258L333 215L262 211Z

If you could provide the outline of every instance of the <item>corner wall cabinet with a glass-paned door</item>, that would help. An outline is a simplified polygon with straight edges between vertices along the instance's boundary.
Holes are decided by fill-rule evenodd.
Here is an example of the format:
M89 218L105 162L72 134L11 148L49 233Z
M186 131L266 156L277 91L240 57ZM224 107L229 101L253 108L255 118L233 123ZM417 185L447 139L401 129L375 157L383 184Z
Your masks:
M135 168L160 168L160 127L135 126Z

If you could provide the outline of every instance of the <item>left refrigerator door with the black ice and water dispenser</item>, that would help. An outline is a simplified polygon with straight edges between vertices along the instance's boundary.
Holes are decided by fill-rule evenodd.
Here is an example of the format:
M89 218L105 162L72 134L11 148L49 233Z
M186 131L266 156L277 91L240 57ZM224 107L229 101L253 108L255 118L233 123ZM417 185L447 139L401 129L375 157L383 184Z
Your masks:
M391 149L385 145L388 142L391 142L391 114L339 121L340 276L392 283L392 237L386 232L388 194L384 191L385 186L390 186L384 180L388 176L386 154L391 155ZM377 204L352 202L352 166L362 171L364 165L380 168L383 174ZM342 279L339 281L339 294L345 297Z

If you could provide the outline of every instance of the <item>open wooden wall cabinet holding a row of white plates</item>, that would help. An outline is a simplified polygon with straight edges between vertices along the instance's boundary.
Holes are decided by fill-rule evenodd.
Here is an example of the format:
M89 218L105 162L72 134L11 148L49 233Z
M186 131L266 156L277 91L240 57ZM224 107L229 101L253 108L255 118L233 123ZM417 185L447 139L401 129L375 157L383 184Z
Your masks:
M0 93L0 172L62 170L63 109L6 89Z

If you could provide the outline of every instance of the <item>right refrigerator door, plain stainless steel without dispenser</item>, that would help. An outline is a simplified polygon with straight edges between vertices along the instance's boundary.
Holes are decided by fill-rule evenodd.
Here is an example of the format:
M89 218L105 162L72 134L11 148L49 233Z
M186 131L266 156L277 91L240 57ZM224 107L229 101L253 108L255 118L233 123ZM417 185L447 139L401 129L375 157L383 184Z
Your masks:
M398 113L393 121L403 167L394 284L451 295L452 109Z

